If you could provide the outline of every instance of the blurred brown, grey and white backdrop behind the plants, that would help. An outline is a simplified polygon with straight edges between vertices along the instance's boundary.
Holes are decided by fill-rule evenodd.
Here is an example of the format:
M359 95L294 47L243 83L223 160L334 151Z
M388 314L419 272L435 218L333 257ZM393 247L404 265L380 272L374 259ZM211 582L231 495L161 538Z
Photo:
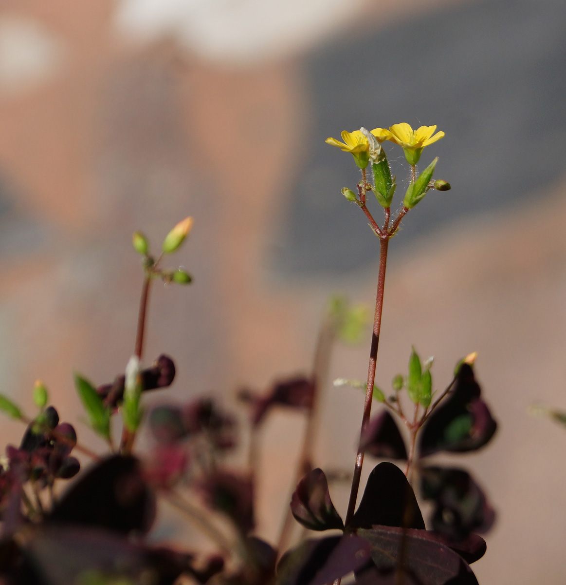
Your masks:
M474 571L564 583L566 429L527 408L566 409L565 26L561 0L4 0L0 391L33 412L41 377L76 422L72 371L110 381L133 353L131 233L157 247L186 215L175 261L195 283L152 291L147 362L178 367L159 398L308 372L329 295L373 304L379 255L340 194L353 160L324 139L436 124L446 137L422 164L438 155L453 188L390 246L377 383L412 344L435 356L436 388L478 352L500 426L455 460L498 510ZM336 347L330 379L363 379L368 345ZM362 403L325 389L315 464L350 471ZM278 412L263 432L258 534L272 542L303 426ZM2 441L21 432L2 419ZM343 513L348 487L332 494Z

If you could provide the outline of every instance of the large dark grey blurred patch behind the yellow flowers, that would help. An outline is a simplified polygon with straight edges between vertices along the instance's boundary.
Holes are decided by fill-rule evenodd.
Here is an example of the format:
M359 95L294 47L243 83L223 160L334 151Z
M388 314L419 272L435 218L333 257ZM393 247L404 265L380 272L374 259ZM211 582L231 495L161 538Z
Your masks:
M424 150L421 167L439 156L436 176L453 189L419 205L405 222L403 245L553 183L565 168L565 27L560 0L472 2L374 35L349 33L308 57L312 130L276 266L338 273L376 258L363 214L339 192L354 187L357 167L350 154L324 143L344 129L408 122L446 132ZM400 148L386 143L386 150L402 194L408 165Z

